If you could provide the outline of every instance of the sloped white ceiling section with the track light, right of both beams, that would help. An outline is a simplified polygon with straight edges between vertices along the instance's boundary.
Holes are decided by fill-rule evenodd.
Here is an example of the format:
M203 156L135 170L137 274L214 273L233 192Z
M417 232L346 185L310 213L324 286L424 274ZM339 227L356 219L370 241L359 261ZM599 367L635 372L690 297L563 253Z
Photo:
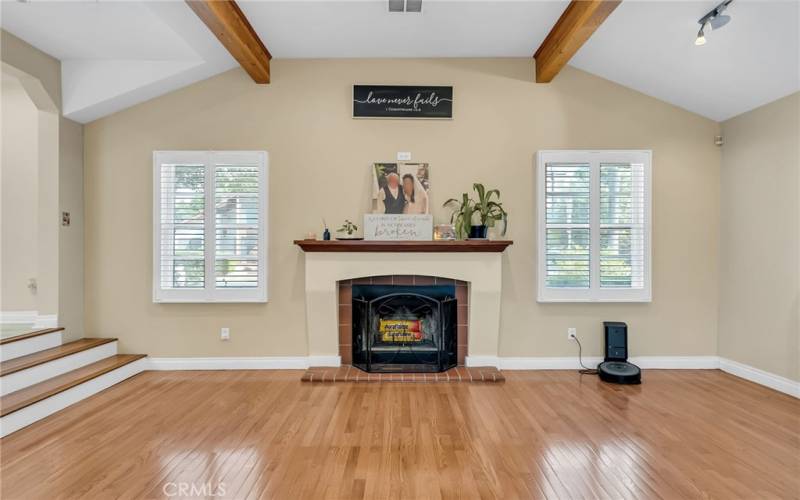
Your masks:
M717 3L623 1L570 64L716 121L800 90L800 2L734 0L695 46Z

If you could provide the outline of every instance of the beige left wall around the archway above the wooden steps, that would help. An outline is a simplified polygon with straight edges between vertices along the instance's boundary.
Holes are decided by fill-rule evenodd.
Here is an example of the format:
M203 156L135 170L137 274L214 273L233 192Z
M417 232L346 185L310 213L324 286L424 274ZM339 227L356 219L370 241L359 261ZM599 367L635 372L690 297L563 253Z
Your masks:
M2 71L16 75L39 110L37 306L57 314L65 338L83 336L83 126L60 117L61 62L0 30ZM62 205L63 203L63 205ZM61 209L73 225L60 225ZM4 266L5 267L5 266ZM6 309L5 305L3 309Z

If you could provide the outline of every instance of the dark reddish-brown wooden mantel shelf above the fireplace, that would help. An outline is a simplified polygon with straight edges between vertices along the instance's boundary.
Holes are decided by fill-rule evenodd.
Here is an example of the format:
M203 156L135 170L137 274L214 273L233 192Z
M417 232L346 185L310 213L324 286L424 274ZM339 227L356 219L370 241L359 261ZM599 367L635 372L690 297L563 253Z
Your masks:
M363 241L295 240L305 252L502 252L511 240Z

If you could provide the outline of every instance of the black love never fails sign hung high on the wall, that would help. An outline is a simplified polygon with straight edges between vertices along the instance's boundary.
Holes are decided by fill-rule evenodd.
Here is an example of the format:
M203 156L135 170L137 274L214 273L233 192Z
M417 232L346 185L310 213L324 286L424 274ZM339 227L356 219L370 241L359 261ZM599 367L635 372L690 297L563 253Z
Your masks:
M453 118L453 87L353 85L353 118Z

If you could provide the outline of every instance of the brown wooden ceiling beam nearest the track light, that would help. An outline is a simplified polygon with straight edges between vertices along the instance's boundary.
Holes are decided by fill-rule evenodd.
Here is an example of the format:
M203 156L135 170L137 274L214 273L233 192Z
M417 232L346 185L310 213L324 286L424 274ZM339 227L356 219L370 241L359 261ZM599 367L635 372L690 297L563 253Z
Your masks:
M536 50L536 83L549 83L622 0L572 0Z

